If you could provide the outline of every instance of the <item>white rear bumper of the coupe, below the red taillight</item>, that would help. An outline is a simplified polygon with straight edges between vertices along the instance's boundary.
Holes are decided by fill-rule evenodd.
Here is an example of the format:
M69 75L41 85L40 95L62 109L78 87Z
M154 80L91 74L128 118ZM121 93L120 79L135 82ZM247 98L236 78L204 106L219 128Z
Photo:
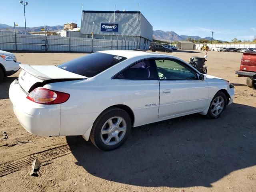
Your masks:
M60 104L42 105L26 98L27 94L14 80L9 97L20 124L31 134L58 136L60 134Z

